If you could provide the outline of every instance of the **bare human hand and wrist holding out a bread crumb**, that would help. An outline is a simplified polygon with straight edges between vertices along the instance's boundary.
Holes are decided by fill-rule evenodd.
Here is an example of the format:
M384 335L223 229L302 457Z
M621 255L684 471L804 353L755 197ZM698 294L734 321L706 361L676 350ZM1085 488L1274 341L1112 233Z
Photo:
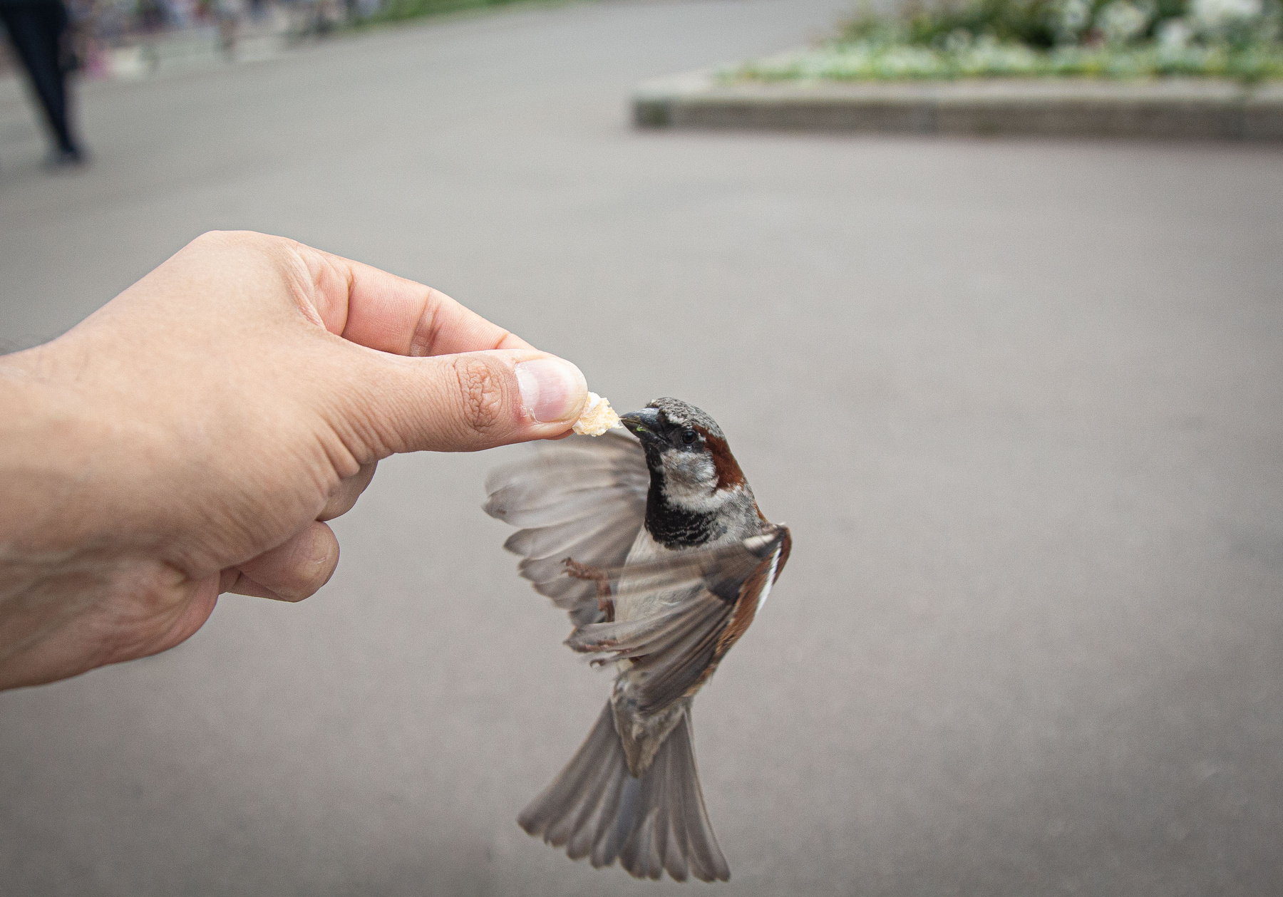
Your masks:
M172 648L223 592L307 598L339 561L325 521L381 458L563 436L585 398L572 364L438 290L198 237L0 357L0 688Z

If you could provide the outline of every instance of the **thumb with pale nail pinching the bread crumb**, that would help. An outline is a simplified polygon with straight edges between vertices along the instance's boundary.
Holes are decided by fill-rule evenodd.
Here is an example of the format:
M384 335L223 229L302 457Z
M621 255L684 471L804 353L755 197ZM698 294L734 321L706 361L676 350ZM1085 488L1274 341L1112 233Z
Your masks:
M561 436L588 400L579 367L536 349L362 352L373 370L349 391L348 423L373 430L390 452L475 452Z

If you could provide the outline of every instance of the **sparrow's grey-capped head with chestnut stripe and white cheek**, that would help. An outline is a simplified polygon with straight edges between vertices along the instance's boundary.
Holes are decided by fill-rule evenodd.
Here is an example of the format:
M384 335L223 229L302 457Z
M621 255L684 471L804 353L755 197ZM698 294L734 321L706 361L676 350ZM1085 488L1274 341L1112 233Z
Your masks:
M709 513L734 497L752 495L717 421L699 408L663 398L620 421L642 440L652 484L670 504Z

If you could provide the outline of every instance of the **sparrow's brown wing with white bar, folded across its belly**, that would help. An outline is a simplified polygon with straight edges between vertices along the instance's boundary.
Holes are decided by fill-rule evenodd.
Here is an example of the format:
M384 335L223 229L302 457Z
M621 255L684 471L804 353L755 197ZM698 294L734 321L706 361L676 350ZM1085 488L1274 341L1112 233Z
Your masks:
M694 694L735 644L762 606L788 561L793 538L783 525L767 524L761 535L729 547L611 571L616 595L686 597L640 620L593 622L566 639L575 651L602 654L602 662L631 658L643 671L639 706L654 713Z

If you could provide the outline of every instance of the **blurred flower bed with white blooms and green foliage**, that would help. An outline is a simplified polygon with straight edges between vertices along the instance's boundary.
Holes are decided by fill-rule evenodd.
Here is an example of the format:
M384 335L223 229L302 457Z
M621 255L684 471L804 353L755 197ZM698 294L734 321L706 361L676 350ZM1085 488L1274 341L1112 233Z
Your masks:
M1283 77L1279 0L910 0L729 80Z

